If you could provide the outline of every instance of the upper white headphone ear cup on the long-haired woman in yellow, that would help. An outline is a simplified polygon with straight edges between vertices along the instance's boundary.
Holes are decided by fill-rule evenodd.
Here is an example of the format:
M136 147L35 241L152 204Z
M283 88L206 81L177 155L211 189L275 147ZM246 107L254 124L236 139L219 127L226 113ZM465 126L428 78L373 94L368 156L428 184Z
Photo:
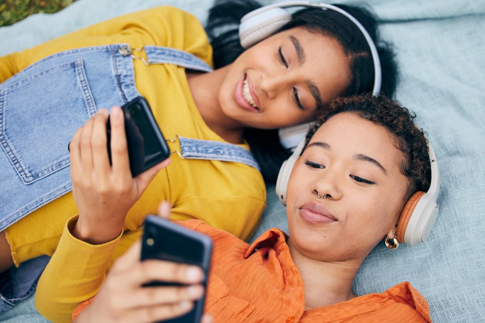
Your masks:
M291 20L291 14L283 8L271 8L248 14L241 19L239 40L242 48L268 38Z

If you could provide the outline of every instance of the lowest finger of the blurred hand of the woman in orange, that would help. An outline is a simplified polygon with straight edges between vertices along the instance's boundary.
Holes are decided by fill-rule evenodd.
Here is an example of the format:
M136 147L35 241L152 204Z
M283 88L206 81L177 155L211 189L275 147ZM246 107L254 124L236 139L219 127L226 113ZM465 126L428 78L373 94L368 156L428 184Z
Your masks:
M159 305L151 307L142 307L132 311L127 311L123 315L123 322L158 322L173 319L189 313L194 307L190 301L170 305Z

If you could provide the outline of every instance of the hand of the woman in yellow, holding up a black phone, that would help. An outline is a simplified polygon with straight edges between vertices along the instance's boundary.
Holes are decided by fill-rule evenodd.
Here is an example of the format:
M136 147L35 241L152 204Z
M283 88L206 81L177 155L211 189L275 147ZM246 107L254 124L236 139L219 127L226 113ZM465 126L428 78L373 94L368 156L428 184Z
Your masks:
M125 121L120 107L111 108L111 162L106 149L108 112L98 113L74 134L70 144L71 179L79 219L72 234L98 244L115 239L128 210L142 196L169 159L133 178L128 159Z

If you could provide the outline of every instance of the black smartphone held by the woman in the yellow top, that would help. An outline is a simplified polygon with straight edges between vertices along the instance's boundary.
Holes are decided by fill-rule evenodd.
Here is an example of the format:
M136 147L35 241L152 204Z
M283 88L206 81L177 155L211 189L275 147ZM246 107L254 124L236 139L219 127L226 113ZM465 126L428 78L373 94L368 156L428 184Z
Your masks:
M125 117L128 157L133 177L164 161L170 150L145 98L138 96L121 106ZM111 164L111 126L106 124L107 149ZM69 146L67 147L69 149Z

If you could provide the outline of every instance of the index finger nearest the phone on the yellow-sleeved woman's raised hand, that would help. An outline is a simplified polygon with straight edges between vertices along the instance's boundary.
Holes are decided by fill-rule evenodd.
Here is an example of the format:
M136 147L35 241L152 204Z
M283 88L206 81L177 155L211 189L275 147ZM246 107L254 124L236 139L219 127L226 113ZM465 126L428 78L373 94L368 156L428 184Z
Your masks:
M120 107L112 107L109 117L111 124L111 163L115 175L131 178L128 144L126 142L125 119Z

